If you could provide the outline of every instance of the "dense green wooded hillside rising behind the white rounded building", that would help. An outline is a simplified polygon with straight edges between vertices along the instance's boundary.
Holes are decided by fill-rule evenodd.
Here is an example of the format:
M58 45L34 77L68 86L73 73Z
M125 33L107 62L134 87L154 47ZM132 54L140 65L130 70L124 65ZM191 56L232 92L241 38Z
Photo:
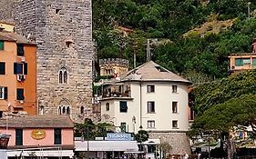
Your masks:
M225 77L227 56L251 52L251 41L256 37L253 16L256 2L250 5L251 18L247 3L247 0L95 0L93 27L98 57L124 57L132 63L136 42L139 65L146 61L147 38L168 39L171 43L154 46L154 61L196 83ZM217 15L216 20L210 22L209 15ZM134 32L124 37L115 31L117 26ZM186 35L195 30L214 32Z

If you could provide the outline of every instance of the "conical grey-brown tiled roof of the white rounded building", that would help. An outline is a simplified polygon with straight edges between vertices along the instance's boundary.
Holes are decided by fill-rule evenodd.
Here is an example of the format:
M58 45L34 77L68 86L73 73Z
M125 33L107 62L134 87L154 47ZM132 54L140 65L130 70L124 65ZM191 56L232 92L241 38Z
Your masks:
M121 75L122 81L173 81L173 82L190 82L183 77L170 72L168 69L149 61L144 65L139 65L125 75Z

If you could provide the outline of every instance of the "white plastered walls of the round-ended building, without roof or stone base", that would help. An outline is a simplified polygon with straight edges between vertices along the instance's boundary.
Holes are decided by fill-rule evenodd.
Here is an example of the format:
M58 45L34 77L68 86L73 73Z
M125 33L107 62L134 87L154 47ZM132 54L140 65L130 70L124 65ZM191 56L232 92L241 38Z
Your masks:
M130 97L109 97L101 101L101 114L108 116L108 120L113 124L118 127L121 123L126 123L126 131L129 133L137 133L140 125L143 130L153 132L189 130L188 84L175 82L128 84L131 90ZM148 93L147 85L153 85L154 92ZM177 85L177 93L172 92L172 85ZM127 112L120 112L120 101L127 102ZM148 102L154 102L155 108L152 108L154 110L151 112L148 110ZM177 103L177 111L172 110L173 103ZM172 125L175 121L177 126Z

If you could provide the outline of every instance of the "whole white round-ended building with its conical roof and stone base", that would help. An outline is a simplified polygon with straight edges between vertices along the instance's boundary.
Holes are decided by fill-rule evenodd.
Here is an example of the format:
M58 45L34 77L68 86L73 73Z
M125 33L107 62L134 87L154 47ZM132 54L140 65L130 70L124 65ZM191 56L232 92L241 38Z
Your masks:
M189 84L149 61L119 81L103 84L102 121L112 122L117 131L135 134L141 125L149 138L168 142L171 154L189 154Z

